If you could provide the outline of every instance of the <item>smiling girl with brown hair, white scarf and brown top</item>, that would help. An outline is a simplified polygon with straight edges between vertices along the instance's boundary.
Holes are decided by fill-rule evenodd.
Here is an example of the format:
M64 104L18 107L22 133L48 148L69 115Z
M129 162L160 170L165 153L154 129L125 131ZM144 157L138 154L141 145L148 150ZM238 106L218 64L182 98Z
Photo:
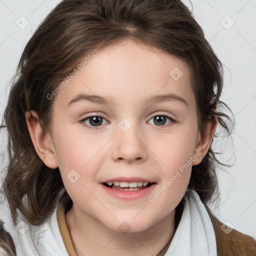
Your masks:
M255 255L207 206L216 126L232 130L222 85L181 1L61 1L4 112L1 217L17 255Z

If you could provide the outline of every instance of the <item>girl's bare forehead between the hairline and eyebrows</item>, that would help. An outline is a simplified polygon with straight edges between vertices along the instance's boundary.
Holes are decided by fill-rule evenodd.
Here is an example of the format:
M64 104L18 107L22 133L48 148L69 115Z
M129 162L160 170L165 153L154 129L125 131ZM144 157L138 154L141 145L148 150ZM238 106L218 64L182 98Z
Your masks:
M75 75L57 94L62 107L80 93L105 96L119 106L166 93L194 103L190 70L180 58L131 40L98 49L84 61L86 56L77 61Z

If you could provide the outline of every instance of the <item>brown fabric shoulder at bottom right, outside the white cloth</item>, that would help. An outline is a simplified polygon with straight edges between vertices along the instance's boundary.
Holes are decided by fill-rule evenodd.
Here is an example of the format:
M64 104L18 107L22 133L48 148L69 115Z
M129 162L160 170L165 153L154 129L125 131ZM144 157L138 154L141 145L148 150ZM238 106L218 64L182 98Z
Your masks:
M256 255L256 241L251 236L235 229L224 232L223 229L226 228L226 225L213 215L207 205L204 206L214 228L218 256Z

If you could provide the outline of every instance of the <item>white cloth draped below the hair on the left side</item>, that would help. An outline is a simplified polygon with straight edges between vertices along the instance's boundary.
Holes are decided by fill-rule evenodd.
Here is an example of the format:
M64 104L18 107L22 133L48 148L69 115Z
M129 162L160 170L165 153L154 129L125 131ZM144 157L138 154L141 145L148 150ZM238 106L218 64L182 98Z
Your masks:
M0 220L5 234L12 238L18 256L67 256L58 229L56 209L42 224L33 225L20 212L14 223L9 207L6 197L0 193ZM8 237L5 235L5 240Z

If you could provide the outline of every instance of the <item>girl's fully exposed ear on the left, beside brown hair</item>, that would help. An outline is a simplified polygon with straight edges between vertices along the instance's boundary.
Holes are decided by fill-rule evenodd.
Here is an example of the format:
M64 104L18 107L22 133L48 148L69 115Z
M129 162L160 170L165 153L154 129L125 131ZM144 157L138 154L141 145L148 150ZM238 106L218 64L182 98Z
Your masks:
M42 131L37 112L34 110L26 111L25 118L36 153L46 166L57 168L58 161L52 138L49 132Z

